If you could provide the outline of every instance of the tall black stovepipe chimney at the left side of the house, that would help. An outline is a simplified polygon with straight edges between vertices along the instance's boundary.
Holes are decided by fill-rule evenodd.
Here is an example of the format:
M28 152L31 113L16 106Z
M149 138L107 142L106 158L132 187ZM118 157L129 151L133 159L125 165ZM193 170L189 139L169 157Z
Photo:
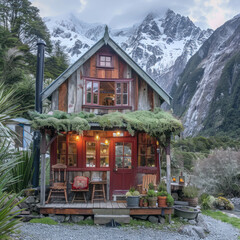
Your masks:
M44 78L44 48L46 46L43 40L38 40L37 43L37 76L36 76L36 93L35 93L35 111L42 113L42 97L43 78ZM39 186L39 162L40 162L40 139L39 131L34 131L33 134L33 187Z

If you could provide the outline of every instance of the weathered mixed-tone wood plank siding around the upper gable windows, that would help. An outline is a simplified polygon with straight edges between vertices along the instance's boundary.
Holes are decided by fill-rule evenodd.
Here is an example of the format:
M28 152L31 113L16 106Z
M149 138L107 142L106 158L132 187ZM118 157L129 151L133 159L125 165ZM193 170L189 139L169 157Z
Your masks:
M110 54L113 58L112 68L97 66L100 54ZM104 46L77 69L57 90L52 94L51 110L61 110L68 113L88 111L96 114L105 114L113 111L125 112L125 109L94 109L83 108L85 105L85 80L96 79L133 79L129 82L129 105L132 111L152 110L160 107L161 101L158 94L142 80L131 67L114 53L109 47Z

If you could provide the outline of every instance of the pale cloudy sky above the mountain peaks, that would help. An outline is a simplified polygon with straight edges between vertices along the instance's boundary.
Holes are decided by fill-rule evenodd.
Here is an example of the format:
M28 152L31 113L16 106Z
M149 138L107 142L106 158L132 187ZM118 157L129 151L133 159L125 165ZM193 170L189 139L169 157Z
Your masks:
M216 29L240 13L239 0L31 0L42 17L75 13L85 22L121 28L139 22L151 11L170 8L201 28Z

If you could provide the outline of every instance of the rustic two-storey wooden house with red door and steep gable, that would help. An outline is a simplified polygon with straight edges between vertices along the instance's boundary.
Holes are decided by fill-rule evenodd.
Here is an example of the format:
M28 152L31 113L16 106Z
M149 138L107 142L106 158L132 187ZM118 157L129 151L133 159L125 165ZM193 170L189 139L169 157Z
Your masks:
M109 37L107 28L102 39L42 92L42 100L46 98L52 112L99 116L153 111L171 100ZM50 156L51 165L67 165L70 180L78 175L106 180L108 199L114 191L140 184L144 174L156 174L159 179L156 137L144 131L130 134L122 126L103 128L92 122L81 134L62 131L52 139Z

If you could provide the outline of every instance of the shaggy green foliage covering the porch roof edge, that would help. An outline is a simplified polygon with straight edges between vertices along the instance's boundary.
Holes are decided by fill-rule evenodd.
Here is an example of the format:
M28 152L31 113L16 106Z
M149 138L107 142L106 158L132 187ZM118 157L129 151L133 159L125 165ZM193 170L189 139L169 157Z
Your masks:
M150 136L160 138L171 133L179 135L183 130L180 120L171 113L161 109L154 111L113 112L105 115L94 113L66 113L54 111L52 114L40 114L31 112L31 125L34 129L53 128L58 132L76 131L82 133L91 129L91 124L98 124L103 130L114 128L126 128L134 135L135 131L143 131Z

